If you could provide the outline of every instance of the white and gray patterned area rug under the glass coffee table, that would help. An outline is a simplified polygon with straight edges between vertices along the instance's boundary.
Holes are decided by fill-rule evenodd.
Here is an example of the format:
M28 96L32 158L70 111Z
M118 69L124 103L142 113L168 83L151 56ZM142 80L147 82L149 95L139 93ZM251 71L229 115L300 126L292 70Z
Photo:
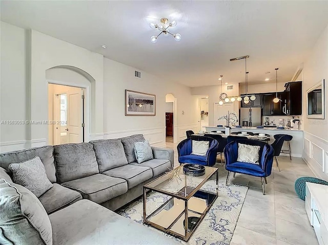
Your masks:
M209 180L204 184L202 189L215 191L215 186L215 181ZM181 244L229 245L247 191L248 187L246 186L234 184L226 186L226 183L219 182L219 195L217 199L188 242L161 232L153 227L148 227L181 242ZM152 209L150 211L155 210L156 207L165 203L169 198L169 196L158 192L149 192L147 195L147 211L149 207ZM119 209L117 213L142 224L142 197Z

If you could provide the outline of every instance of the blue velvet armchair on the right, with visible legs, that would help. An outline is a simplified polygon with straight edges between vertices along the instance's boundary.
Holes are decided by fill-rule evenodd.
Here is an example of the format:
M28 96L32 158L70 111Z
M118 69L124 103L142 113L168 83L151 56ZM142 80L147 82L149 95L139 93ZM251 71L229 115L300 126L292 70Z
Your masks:
M238 159L238 143L245 145L260 146L259 164L237 162ZM262 193L265 194L265 184L267 177L271 174L274 150L267 143L256 140L236 140L228 143L224 148L224 158L226 158L226 169L228 170L227 182L228 185L230 173L243 173L261 178Z

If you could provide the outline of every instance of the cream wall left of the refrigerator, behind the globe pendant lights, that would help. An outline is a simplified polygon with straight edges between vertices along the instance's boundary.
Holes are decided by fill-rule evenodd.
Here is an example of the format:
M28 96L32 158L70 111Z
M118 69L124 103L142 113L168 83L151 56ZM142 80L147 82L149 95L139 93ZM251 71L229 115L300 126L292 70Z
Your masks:
M213 117L214 115L214 103L220 101L221 87L220 85L216 86L202 86L202 87L193 87L191 89L192 95L202 95L209 97L209 126L216 126L217 119ZM222 85L222 93L226 93L228 96L237 96L239 95L239 85L234 84L234 90L227 90L227 85ZM234 102L235 112L239 117L239 102L236 100ZM215 123L214 123L215 120Z

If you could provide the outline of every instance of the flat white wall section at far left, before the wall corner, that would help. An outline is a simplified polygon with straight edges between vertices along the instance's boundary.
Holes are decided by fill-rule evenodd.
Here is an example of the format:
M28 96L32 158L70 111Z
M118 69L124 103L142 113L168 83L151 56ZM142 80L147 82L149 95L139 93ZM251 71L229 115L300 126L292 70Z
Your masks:
M27 147L30 141L29 96L27 75L28 32L7 23L1 29L1 84L0 84L0 148L7 144L12 149ZM5 124L17 120L24 124ZM0 149L1 150L1 149Z

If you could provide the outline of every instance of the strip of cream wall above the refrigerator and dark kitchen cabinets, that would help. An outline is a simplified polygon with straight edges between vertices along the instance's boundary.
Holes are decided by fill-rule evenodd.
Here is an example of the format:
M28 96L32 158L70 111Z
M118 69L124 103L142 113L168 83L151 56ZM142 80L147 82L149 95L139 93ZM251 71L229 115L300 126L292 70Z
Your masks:
M278 82L278 92L285 90L286 82ZM245 94L245 84L239 83L240 94ZM276 92L276 82L275 81L263 81L261 84L249 84L247 88L248 94L257 94L257 93L270 93Z

